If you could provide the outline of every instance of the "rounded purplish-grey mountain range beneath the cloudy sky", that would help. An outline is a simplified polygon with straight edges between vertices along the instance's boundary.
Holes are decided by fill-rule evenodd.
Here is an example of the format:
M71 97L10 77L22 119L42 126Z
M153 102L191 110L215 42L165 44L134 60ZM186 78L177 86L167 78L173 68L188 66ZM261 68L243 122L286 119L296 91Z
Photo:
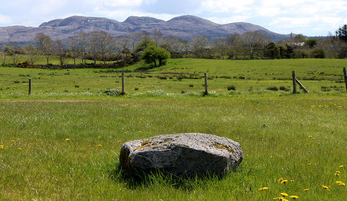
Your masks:
M200 17L185 15L172 18L168 21L152 17L130 16L124 22L109 18L71 16L65 19L55 19L42 23L39 27L9 26L0 27L0 41L30 42L36 33L42 32L53 39L66 39L80 31L86 33L94 30L102 30L112 36L126 35L128 32L152 32L160 30L163 35L178 36L189 39L194 35L207 35L211 38L219 38L231 33L243 34L247 31L257 31L275 40L286 38L283 35L265 29L261 26L246 22L234 22L225 25L214 23Z

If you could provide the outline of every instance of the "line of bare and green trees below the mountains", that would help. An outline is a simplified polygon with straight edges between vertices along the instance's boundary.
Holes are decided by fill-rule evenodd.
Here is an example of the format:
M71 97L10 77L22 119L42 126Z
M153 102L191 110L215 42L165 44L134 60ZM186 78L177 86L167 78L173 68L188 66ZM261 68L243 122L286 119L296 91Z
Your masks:
M270 36L248 31L239 35L231 34L225 38L211 41L208 36L197 35L190 41L177 36L163 36L153 32L129 32L126 36L112 37L104 31L79 32L67 40L52 40L44 33L33 38L35 45L20 46L16 42L2 43L2 63L8 60L17 64L26 57L31 65L42 56L47 64L52 57L64 65L67 59L81 61L99 60L119 61L128 57L142 58L146 63L159 66L170 57L195 57L207 59L255 59L255 58L346 58L347 26L339 27L335 35L329 32L328 39L306 39L302 34L274 43ZM78 61L77 61L78 62Z

